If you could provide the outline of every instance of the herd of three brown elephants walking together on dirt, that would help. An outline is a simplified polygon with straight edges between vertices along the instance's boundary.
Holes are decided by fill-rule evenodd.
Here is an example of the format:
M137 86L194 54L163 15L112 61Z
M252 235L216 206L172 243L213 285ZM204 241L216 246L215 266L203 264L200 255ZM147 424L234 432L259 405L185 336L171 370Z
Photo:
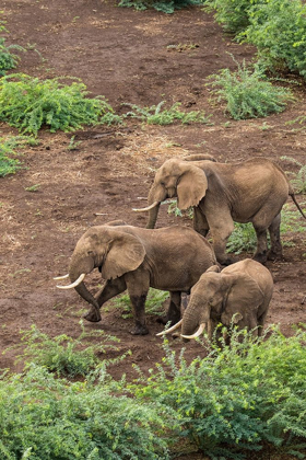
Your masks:
M58 287L75 288L91 306L84 318L92 322L101 321L99 309L107 300L128 290L134 335L149 333L144 307L150 287L170 296L162 320L170 327L157 335L181 326L184 340L204 329L212 337L220 322L260 335L273 294L272 276L262 264L282 256L281 209L289 196L306 219L284 172L262 158L240 163L219 163L205 154L167 160L155 174L149 206L134 209L149 212L146 229L121 220L91 227L75 245L69 274L55 279L70 278L71 284ZM192 207L193 229L154 229L161 203L174 197L179 209ZM226 254L234 221L255 228L252 260L235 263ZM205 239L209 231L212 244ZM84 284L94 268L105 280L95 296ZM183 318L181 294L190 294Z

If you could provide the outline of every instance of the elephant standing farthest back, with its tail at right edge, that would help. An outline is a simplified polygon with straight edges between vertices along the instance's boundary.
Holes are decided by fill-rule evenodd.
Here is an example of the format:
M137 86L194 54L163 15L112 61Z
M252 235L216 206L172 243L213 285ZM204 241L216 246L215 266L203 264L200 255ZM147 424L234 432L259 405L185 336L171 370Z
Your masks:
M190 156L165 161L149 192L149 206L133 210L150 211L146 228L151 229L166 198L177 197L180 209L193 207L193 229L203 237L210 230L216 260L222 265L235 262L226 254L234 221L251 222L257 234L254 258L264 264L268 258L282 257L281 209L289 195L306 219L284 172L272 161L255 158L239 163L219 163L208 156L202 159ZM271 239L269 252L267 230Z

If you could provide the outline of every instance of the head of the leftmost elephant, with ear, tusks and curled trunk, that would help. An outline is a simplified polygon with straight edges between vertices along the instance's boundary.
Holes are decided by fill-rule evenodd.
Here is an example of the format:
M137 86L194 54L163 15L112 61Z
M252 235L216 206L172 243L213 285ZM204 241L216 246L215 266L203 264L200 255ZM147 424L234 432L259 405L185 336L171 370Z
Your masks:
M93 304L96 321L101 320L99 306L83 281L85 276L94 268L98 268L105 280L115 279L138 268L145 256L142 242L133 234L120 230L117 227L119 223L115 222L114 227L106 225L89 229L75 245L69 275L55 278L70 277L70 285L57 287L74 288L84 300Z

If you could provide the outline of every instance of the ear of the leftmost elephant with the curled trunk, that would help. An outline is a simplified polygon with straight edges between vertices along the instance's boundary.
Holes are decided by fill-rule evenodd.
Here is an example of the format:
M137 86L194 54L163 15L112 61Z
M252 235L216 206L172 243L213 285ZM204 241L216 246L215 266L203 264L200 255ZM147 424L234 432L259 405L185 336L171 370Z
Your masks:
M144 245L136 235L114 230L109 234L108 250L101 267L104 279L118 278L127 272L133 272L145 256Z

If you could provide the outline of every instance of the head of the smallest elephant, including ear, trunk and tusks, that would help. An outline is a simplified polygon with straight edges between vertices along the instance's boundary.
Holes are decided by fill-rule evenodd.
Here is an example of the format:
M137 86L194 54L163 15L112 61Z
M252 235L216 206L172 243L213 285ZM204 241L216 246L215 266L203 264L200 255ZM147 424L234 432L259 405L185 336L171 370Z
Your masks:
M248 324L249 314L256 314L257 308L263 301L262 290L246 273L219 272L220 268L214 265L200 277L191 289L181 322L160 335L174 331L181 324L184 338L195 338L207 327L211 338L211 322L221 322L226 326L232 321L242 326Z

